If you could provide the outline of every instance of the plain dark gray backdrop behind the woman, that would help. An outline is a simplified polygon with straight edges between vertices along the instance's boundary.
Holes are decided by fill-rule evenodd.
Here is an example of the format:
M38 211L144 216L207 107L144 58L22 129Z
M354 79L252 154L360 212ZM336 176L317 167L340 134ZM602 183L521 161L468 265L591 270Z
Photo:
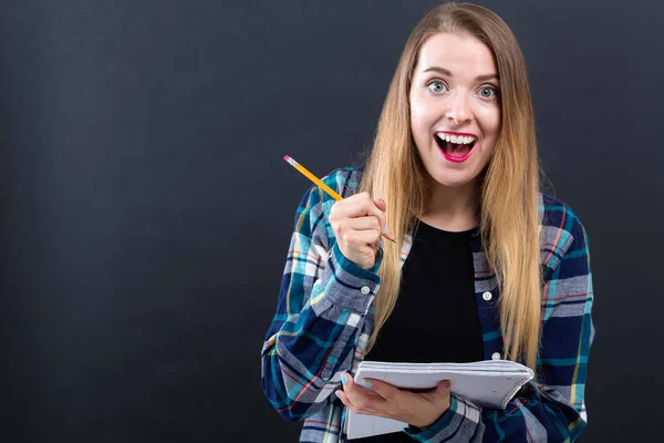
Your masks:
M434 1L0 3L2 442L294 441L260 391L292 217L357 164ZM585 224L583 441L651 441L662 361L661 2L490 1L543 168Z

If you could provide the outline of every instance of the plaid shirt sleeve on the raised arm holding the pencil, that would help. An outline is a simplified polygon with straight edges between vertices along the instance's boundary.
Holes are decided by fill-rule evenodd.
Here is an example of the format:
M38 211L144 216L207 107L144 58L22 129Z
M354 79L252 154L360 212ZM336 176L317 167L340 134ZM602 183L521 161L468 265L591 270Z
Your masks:
M313 187L298 208L261 352L263 393L287 420L305 419L334 401L380 287L382 253L369 270L347 260L329 226L333 204Z

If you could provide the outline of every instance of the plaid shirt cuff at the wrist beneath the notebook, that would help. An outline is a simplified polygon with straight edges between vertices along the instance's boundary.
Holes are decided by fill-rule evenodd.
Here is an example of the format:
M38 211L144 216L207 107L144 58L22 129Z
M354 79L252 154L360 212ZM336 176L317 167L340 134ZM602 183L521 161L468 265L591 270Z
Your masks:
M469 442L479 423L481 411L469 401L449 396L449 408L425 431L414 427L404 431L417 442Z

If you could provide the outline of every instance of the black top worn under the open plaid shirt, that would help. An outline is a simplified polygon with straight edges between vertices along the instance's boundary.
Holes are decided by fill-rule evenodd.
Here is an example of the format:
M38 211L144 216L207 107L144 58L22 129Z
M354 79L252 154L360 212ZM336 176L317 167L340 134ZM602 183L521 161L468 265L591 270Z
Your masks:
M470 251L475 231L450 233L419 222L396 306L365 360L466 363L484 359ZM403 432L352 441L413 442Z

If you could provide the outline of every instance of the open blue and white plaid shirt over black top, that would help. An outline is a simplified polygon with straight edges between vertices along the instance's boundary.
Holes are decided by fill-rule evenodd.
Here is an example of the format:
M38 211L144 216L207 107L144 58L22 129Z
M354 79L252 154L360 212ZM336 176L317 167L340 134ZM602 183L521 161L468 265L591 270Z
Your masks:
M361 175L361 168L338 169L324 182L346 197ZM334 202L313 187L298 208L277 315L261 353L263 392L283 418L304 420L301 442L345 440L344 406L333 393L341 388L342 372L354 373L364 357L374 323L372 301L381 286L375 274L380 261L365 270L341 254L329 222ZM505 410L452 395L448 411L432 426L419 433L404 430L415 441L572 442L585 426L583 391L594 336L588 237L563 203L540 195L539 209L542 329L537 383ZM411 244L408 235L402 265ZM500 359L498 284L479 235L471 237L470 247L484 357Z

